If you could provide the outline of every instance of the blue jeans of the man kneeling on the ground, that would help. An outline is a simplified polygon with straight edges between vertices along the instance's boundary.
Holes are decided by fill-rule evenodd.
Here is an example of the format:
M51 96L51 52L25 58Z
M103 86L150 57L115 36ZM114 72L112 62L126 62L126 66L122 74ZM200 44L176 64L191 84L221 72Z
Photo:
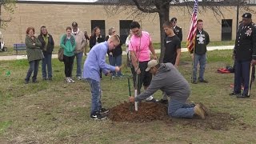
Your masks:
M168 115L174 118L193 118L194 105L177 100L170 100L168 106Z

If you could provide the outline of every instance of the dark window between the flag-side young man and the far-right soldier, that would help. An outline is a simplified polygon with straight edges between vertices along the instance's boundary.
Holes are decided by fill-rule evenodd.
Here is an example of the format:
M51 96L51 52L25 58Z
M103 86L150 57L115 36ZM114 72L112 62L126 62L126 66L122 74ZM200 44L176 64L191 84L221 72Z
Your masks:
M222 41L232 39L232 19L222 19Z

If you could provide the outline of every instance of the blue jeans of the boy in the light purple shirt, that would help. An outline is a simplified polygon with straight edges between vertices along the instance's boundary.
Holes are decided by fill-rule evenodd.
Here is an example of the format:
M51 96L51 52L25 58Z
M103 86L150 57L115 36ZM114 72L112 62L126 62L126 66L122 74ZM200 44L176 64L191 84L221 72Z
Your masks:
M91 92L91 109L90 114L95 114L99 112L102 108L102 90L100 82L95 81L94 79L86 78L86 81L90 85Z

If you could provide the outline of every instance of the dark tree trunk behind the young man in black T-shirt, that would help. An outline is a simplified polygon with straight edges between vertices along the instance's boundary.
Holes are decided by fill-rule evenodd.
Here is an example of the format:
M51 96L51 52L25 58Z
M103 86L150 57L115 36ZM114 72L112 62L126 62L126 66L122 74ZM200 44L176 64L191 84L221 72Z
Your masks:
M163 56L165 54L165 45L164 45L164 39L166 38L166 33L162 28L162 25L164 22L169 21L169 11L170 11L170 6L161 6L159 10L159 21L160 21L160 36L161 36L161 54L159 58L159 62L162 63Z

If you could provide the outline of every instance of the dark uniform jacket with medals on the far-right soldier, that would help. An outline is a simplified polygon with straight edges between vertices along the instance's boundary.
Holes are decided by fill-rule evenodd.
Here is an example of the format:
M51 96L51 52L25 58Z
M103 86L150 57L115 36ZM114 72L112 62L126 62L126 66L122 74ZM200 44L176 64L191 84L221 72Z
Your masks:
M236 60L250 61L256 59L256 28L252 23L248 26L240 24L234 45Z

